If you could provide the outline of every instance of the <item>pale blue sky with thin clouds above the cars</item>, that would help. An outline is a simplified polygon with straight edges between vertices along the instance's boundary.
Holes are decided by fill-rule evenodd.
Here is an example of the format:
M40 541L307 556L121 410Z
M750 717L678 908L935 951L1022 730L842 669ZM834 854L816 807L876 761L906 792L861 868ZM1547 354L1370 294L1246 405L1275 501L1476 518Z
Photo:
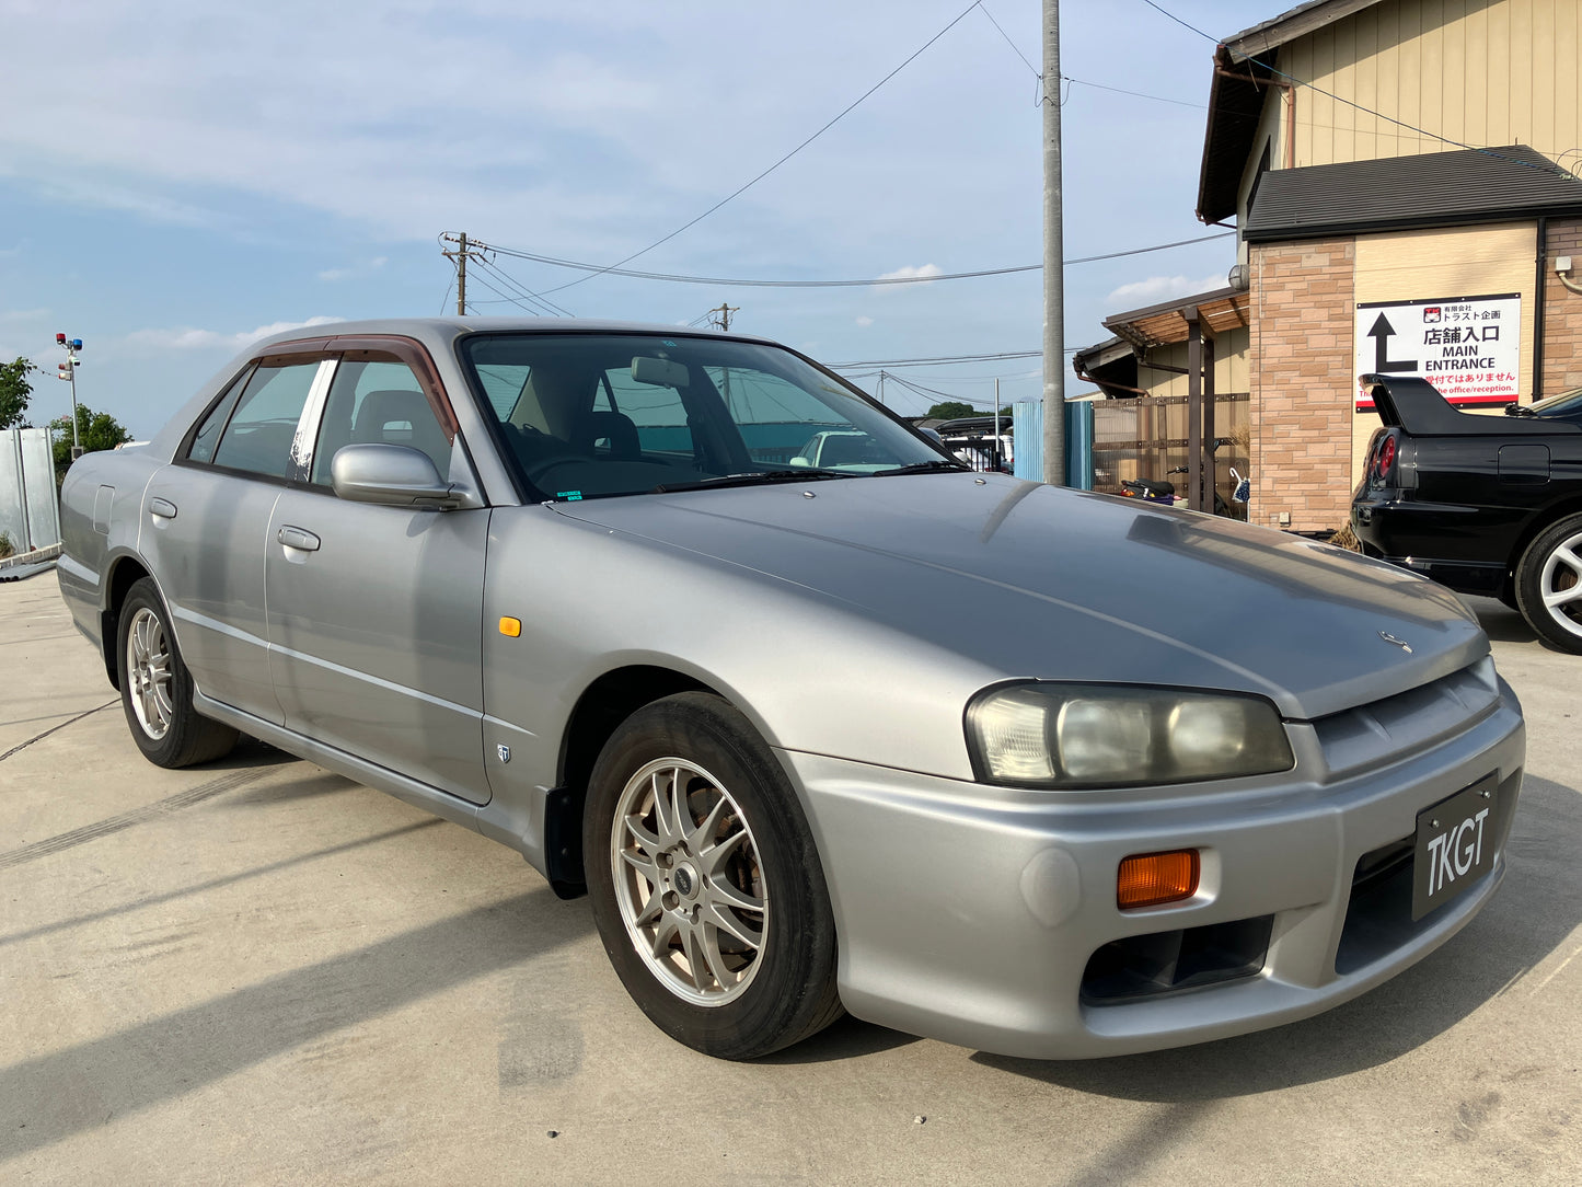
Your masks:
M269 6L0 0L0 358L33 358L35 423L78 396L152 435L274 328L454 310L441 231L609 264L772 165L967 0L721 5L392 0ZM1228 36L1285 5L1174 0ZM986 0L1041 66L1038 0ZM1212 46L1142 0L1066 0L1066 256L1209 233L1193 215ZM1088 82L1186 104L1134 98ZM857 279L1043 258L1035 74L982 11L645 271ZM1107 313L1223 283L1232 241L1066 269L1066 345ZM535 291L582 274L497 264ZM495 280L498 285L500 282ZM519 312L470 285L481 313ZM838 364L1036 350L1036 272L751 290L596 277L579 317L734 329ZM897 369L976 404L1036 359ZM862 380L872 389L872 380ZM1077 385L1071 381L1071 391ZM906 413L930 397L888 386Z

